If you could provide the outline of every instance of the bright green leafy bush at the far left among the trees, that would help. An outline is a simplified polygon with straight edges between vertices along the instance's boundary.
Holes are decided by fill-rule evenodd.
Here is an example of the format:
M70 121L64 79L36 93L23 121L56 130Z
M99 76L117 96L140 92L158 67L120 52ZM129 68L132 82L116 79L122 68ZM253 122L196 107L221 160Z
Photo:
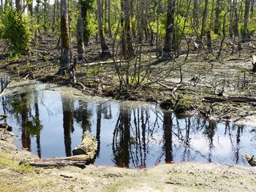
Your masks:
M7 39L10 55L15 57L26 52L31 40L31 27L29 18L20 15L12 7L6 7L1 14L0 35Z

